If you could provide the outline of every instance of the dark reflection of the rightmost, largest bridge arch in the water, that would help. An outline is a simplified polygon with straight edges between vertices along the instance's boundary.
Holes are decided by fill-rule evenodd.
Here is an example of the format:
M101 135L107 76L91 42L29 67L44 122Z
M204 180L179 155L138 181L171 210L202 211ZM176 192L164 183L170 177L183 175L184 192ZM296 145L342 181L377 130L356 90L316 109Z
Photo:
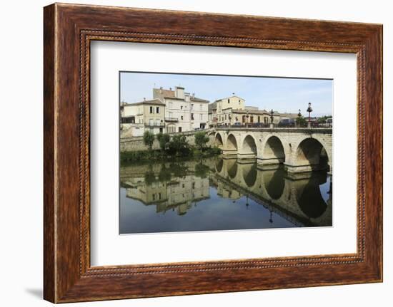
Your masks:
M297 203L302 212L311 219L320 217L327 209L319 184L326 182L326 173L313 173L307 184L297 191Z

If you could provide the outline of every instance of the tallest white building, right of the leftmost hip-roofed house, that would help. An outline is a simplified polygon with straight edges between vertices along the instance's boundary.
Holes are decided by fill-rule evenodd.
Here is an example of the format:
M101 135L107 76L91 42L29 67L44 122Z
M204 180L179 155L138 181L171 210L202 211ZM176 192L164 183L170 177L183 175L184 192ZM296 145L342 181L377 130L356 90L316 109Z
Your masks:
M186 93L184 88L154 88L153 98L165 104L166 132L184 132L207 128L209 100Z

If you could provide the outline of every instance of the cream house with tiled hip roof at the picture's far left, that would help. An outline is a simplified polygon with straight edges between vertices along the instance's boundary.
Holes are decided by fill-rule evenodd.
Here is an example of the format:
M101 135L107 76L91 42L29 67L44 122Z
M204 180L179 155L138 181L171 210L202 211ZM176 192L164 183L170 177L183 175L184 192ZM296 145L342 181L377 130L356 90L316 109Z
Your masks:
M121 103L120 113L122 135L141 136L146 130L154 134L165 131L165 103L159 99Z

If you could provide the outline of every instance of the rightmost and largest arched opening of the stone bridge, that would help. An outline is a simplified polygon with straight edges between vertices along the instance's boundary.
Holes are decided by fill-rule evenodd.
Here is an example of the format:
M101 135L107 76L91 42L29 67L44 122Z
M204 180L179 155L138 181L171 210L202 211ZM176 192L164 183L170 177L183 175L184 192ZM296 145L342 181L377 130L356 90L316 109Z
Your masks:
M309 165L311 170L329 170L326 149L316 139L309 137L297 147L295 165Z

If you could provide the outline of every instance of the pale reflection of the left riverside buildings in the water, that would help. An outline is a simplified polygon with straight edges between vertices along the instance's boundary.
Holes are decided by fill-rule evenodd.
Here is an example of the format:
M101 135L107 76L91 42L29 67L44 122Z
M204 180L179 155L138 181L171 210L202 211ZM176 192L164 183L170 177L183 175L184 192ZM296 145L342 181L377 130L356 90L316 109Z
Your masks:
M145 205L155 205L156 212L177 210L182 215L197 202L209 198L209 178L195 175L175 177L169 181L160 181L154 175L152 182L144 177L131 177L122 182L126 187L126 197L137 199Z

